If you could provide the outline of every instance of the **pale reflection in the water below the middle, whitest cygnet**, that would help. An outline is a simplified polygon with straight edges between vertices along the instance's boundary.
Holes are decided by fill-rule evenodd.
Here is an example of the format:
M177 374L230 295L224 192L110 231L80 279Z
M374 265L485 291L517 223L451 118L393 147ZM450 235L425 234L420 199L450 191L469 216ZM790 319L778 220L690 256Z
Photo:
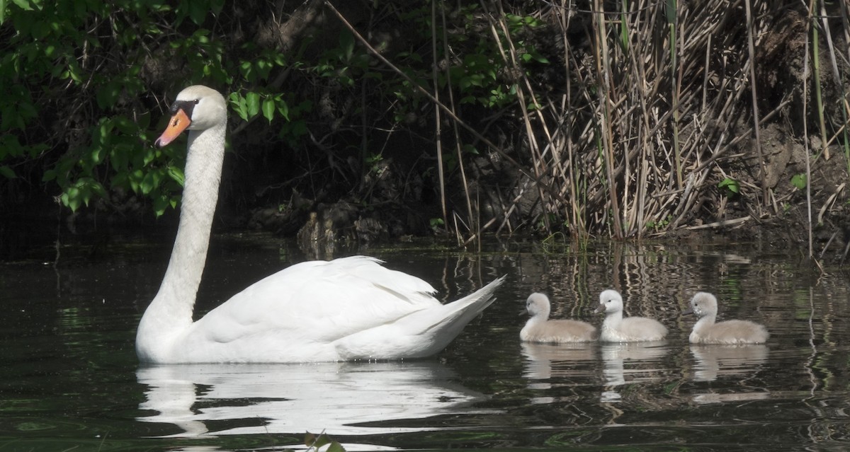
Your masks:
M658 381L660 370L664 369L661 359L670 351L666 341L654 342L617 342L600 346L602 354L602 375L608 390L603 391L603 402L616 402L621 395L615 388L628 382ZM626 368L626 362L630 365ZM631 365L640 364L640 365Z

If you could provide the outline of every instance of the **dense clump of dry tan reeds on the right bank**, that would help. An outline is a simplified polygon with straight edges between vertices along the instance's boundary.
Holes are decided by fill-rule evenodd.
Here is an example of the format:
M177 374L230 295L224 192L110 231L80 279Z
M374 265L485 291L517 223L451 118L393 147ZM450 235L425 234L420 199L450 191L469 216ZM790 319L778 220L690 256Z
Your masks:
M531 138L543 138L542 150L531 138L528 146L537 180L562 195L541 192L541 215L556 213L574 234L641 237L782 214L778 194L790 193L791 176L768 174L786 170L768 167L773 149L762 152L771 142L761 132L771 123L783 124L787 139L808 144L799 126L817 117L819 147L809 154L811 163L829 159L835 142L847 158L847 3L550 5L539 11L541 18L564 37L571 22L589 24L589 43L564 39L564 93L524 86L525 98L541 105L536 116L524 112L524 120ZM840 45L830 38L836 31ZM808 39L812 52L798 45ZM795 67L810 60L813 74ZM839 94L832 89L830 99L821 91L825 61ZM771 65L787 65L780 70L787 73ZM765 83L778 73L785 77L780 92L779 84ZM806 104L810 86L816 110ZM842 115L827 124L825 108ZM812 180L811 170L805 180ZM745 200L738 203L745 210L728 209L734 199Z

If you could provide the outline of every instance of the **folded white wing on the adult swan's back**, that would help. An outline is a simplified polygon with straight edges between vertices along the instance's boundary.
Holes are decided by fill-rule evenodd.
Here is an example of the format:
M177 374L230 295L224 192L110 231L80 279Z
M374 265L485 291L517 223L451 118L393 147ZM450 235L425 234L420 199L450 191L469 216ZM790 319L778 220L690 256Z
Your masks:
M433 308L440 304L433 291L372 257L298 263L237 293L195 322L191 334L214 342L269 335L275 342L329 343Z

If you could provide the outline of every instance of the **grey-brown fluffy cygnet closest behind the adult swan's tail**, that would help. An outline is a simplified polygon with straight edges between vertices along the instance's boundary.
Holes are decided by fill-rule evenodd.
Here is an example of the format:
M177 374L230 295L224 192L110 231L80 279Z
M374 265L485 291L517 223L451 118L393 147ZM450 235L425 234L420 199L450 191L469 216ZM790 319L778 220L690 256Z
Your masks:
M549 297L532 293L525 302L531 318L525 322L519 338L526 342L590 342L595 341L596 327L579 320L549 320Z

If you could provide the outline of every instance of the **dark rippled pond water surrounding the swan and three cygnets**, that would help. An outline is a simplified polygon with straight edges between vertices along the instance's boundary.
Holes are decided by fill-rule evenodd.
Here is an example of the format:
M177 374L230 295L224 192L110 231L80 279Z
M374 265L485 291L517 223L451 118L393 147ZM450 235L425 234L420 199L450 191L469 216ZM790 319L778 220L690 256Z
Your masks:
M850 282L751 244L490 243L360 249L454 299L507 274L498 300L436 359L139 367L135 326L167 240L112 238L0 263L0 452L297 449L325 431L349 450L844 450L850 448ZM339 256L353 251L340 251ZM214 239L198 310L305 259L269 236ZM666 342L519 342L532 291L553 317L598 324L598 292L660 319ZM694 291L766 346L693 347Z

